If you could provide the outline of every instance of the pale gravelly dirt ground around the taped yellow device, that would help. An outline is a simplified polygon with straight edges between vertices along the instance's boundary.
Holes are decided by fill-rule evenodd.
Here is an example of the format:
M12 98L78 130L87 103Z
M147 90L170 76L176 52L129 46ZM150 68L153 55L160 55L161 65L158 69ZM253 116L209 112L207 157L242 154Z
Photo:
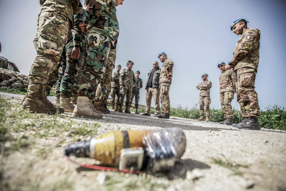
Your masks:
M14 107L20 108L17 104ZM45 118L54 120L56 128L43 126L48 122L26 125L12 136L15 140L27 137L28 146L13 150L14 142L2 144L4 150L10 148L1 154L3 190L286 190L285 131L241 130L212 122L178 117L162 120L135 113L111 112L102 120L72 118L70 113L62 117L33 115L33 119L19 121L33 124ZM64 124L71 124L70 130L62 130ZM64 158L68 144L89 138L74 133L80 124L87 131L92 127L94 136L114 130L179 127L186 135L187 148L174 170L166 174L137 176L86 170Z

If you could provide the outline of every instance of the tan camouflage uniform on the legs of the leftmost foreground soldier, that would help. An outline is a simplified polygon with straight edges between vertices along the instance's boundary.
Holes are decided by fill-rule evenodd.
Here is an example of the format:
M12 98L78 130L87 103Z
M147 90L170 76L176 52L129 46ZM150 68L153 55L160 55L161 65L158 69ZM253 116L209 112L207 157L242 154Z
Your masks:
M73 14L80 7L79 0L40 0L37 56L29 73L30 84L48 84L54 75L63 51Z

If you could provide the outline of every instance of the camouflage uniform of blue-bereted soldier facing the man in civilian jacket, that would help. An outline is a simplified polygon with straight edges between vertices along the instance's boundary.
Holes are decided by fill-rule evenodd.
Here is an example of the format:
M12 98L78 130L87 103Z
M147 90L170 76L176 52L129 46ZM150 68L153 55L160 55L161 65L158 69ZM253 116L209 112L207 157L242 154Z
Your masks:
M159 78L161 107L162 113L165 114L170 113L169 90L172 83L172 78L168 78L167 75L173 75L173 65L174 62L171 59L167 58L163 63Z

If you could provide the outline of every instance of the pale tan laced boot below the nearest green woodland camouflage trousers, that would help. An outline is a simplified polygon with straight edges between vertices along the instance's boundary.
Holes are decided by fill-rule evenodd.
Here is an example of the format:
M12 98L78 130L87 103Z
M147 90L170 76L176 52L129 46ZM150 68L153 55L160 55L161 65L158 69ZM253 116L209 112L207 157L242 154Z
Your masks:
M76 107L73 110L73 117L85 117L89 119L102 119L102 114L96 113L88 97L79 96Z

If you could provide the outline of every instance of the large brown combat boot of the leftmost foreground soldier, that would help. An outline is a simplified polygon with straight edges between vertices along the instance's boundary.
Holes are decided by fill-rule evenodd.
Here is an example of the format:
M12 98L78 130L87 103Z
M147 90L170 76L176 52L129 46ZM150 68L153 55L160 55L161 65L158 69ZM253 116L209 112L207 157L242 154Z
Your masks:
M64 109L54 107L54 105L45 96L44 84L30 84L26 99L22 103L23 109L30 109L31 112L46 114L61 114Z

